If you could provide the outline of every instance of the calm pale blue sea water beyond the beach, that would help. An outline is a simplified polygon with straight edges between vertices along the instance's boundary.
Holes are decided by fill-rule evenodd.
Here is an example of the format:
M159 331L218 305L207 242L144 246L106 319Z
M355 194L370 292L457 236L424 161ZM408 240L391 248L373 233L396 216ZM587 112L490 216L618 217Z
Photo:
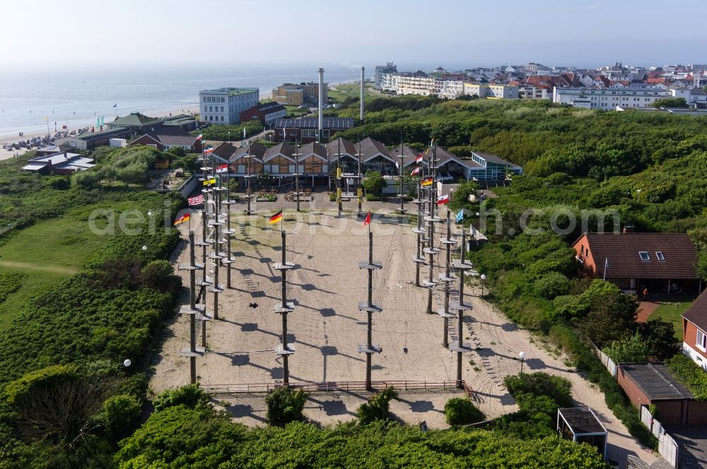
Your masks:
M354 67L323 66L325 82L360 78ZM366 70L370 77L372 71ZM285 82L317 81L317 66L232 69L57 70L0 74L0 137L47 131L54 133L108 122L115 115L142 112L165 115L197 106L199 90L222 86L260 88L261 95ZM117 104L117 107L113 105ZM48 119L47 119L48 118Z

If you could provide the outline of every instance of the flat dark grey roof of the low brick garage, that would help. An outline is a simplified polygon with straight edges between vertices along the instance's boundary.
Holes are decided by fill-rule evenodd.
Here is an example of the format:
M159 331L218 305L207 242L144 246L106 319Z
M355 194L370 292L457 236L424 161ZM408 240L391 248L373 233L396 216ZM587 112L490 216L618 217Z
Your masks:
M623 363L619 369L641 388L650 400L692 399L693 396L672 377L662 363Z

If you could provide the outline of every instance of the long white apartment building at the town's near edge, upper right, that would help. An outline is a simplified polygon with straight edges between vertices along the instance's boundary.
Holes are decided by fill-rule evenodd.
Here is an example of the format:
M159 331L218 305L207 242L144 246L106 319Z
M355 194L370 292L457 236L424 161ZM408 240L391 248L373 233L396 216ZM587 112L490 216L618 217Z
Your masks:
M552 93L552 102L561 105L585 107L587 109L615 110L650 107L655 100L672 97L665 85L610 86L608 88L557 88Z

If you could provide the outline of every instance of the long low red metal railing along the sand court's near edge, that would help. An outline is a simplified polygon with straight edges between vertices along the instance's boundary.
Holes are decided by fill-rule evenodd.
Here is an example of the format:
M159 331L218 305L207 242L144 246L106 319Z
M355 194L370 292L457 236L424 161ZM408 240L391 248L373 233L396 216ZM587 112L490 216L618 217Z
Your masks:
M201 388L210 394L255 394L267 393L274 388L283 386L281 383L239 383L239 384L207 384ZM321 383L296 382L289 386L295 389L302 389L308 393L312 392L346 392L346 391L368 391L366 381L324 381ZM462 380L460 386L457 381L371 381L370 387L373 389L394 387L399 392L404 391L459 391L464 390L469 396L474 392L466 381Z

